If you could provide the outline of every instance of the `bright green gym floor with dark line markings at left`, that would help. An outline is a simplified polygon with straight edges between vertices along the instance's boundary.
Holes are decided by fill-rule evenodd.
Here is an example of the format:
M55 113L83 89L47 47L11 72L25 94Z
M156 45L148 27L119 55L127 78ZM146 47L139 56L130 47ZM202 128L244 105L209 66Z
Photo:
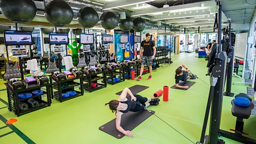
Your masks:
M164 85L174 85L175 69L184 63L192 73L196 74L204 82L209 83L206 61L196 58L196 53L181 53L173 55L171 65L164 64L153 72L152 79L147 80L148 74L142 76L142 81L126 80L116 85L107 85L105 89L92 93L85 92L82 97L71 99L60 103L52 100L51 107L17 117L13 112L7 110L6 91L0 92L0 143L191 143L181 134L174 131L154 115L137 126L131 133L134 138L124 137L116 139L111 135L99 130L99 126L111 121L115 115L111 113L105 103L117 99L116 92L125 87L135 84L149 86L139 94L143 97L153 98L153 93L163 89ZM169 101L164 102L163 96L158 106L150 106L157 116L169 123L188 139L199 141L202 124L204 121L205 108L210 86L199 79L187 91L169 89ZM233 82L241 79L233 77ZM232 92L238 94L246 93L246 85L232 85ZM223 97L221 126L222 130L235 129L236 118L231 115L231 103L234 99ZM18 121L13 125L6 122L10 118ZM131 122L132 123L132 122ZM208 124L209 125L209 124ZM255 134L256 116L251 115L245 120L244 132L249 137L256 139ZM113 127L115 129L115 127ZM209 132L209 126L206 133ZM221 138L226 143L239 143L226 138Z

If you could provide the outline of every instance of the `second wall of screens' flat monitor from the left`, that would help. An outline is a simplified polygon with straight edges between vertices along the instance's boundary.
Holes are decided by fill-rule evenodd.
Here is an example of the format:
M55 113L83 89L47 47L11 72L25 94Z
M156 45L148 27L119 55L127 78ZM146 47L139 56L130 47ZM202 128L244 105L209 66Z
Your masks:
M50 44L68 44L68 33L49 33Z

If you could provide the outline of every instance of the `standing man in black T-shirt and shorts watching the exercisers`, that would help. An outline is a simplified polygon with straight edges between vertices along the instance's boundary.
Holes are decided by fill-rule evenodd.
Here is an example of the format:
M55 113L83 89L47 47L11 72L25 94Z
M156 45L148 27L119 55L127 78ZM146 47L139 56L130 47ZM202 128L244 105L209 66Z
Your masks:
M141 76L144 70L144 65L147 65L149 67L149 77L148 80L152 77L152 65L153 65L153 59L155 58L156 54L156 46L153 41L150 41L151 35L149 33L146 34L146 39L141 42L140 47L140 60L141 60L141 68L140 68L140 76L137 78L138 80L141 80ZM143 49L143 54L142 54ZM152 49L154 49L154 54L152 55ZM142 58L142 59L141 59Z

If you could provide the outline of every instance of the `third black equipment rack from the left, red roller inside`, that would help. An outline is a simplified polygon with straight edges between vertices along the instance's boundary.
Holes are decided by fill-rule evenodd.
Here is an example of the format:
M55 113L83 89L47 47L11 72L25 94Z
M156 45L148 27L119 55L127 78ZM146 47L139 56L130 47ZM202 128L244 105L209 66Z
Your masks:
M97 90L107 87L106 72L107 71L101 71L99 73L95 73L95 74L91 74L91 75L85 74L84 78L83 78L84 90L93 92L93 91L97 91ZM97 83L98 87L93 88L92 83Z

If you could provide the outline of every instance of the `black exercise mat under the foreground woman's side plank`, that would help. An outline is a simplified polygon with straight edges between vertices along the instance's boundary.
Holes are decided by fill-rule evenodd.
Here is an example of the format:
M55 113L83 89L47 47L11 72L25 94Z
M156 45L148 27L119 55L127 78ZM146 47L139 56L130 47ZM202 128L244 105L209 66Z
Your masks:
M151 110L151 113L155 114L155 111ZM151 115L153 115L151 113L149 113L149 111L145 109L138 112L129 111L128 113L122 115L121 126L125 131L132 131L135 127L137 127L139 124L141 124ZM100 126L99 130L106 132L117 139L121 139L125 136L123 133L119 132L116 129L116 118Z

